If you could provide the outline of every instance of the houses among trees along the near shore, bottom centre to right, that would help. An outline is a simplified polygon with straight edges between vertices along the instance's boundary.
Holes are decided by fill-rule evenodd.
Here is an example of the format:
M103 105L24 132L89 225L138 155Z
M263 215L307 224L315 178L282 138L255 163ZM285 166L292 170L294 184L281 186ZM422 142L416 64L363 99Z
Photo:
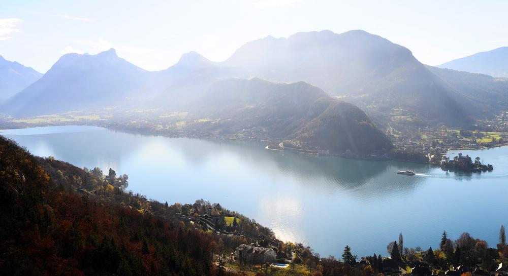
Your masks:
M455 162L470 161L469 156L458 156ZM474 164L474 163L473 163ZM240 238L232 251L216 252L217 267L240 275L322 275L329 266L358 271L359 275L450 275L450 276L508 276L508 266L499 259L508 253L504 226L501 226L497 249L488 248L485 241L463 233L456 241L443 232L439 249L405 248L402 234L387 246L389 255L365 256L358 259L346 246L342 261L334 257L321 258L303 244L282 242L273 232L236 212L199 200L193 205L178 207L180 219L197 229L213 232L227 243L232 237ZM237 240L238 241L238 240ZM223 247L226 248L226 247ZM462 249L462 251L461 251ZM504 257L503 257L504 258Z

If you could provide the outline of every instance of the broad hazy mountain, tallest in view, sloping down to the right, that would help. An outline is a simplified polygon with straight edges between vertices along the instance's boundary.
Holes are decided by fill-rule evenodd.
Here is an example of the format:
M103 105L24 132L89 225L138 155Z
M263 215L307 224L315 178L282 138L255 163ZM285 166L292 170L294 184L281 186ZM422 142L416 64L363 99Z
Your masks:
M425 124L469 124L473 116L490 112L476 108L482 95L443 80L408 49L361 30L268 36L245 44L224 64L270 81L305 81L331 95L347 96L384 122L394 108Z

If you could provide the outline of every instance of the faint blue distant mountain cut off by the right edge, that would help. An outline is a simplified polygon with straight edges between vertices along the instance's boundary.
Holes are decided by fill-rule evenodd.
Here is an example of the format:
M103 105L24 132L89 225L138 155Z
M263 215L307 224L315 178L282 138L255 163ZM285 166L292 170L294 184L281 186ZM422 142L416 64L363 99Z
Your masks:
M496 77L508 77L508 47L454 59L437 67Z

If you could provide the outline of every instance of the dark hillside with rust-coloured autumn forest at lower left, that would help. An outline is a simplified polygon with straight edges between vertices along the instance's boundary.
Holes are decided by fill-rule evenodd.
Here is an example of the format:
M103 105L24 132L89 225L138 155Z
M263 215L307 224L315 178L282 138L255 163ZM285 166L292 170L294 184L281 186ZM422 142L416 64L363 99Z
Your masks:
M234 275L216 264L217 255L274 239L218 204L148 201L125 190L127 179L35 157L0 136L0 274ZM215 221L224 213L239 217L234 231L242 236L185 219L204 210L215 212Z

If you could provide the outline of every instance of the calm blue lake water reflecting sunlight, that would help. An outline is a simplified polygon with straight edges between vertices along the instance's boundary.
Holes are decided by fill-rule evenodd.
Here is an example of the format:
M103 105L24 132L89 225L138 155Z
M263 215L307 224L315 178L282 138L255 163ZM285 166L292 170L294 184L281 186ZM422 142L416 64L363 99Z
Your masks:
M381 253L403 233L405 247L437 248L446 229L498 243L508 225L508 147L462 151L493 172L454 174L427 165L370 162L266 150L239 141L165 138L65 126L4 130L30 152L78 167L129 175L129 189L168 203L205 199L303 242L322 256ZM415 170L416 176L396 175Z

